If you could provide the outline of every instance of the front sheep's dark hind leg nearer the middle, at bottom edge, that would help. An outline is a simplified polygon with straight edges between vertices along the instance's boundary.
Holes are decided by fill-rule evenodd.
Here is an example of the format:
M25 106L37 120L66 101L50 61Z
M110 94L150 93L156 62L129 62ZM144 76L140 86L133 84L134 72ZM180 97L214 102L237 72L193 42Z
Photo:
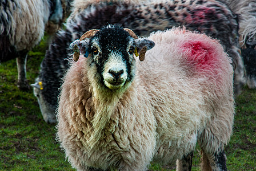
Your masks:
M177 162L176 162L177 169L176 170L191 170L193 154L194 154L194 152L191 152L191 153L187 154L186 156L183 156L183 158L181 160L177 160Z

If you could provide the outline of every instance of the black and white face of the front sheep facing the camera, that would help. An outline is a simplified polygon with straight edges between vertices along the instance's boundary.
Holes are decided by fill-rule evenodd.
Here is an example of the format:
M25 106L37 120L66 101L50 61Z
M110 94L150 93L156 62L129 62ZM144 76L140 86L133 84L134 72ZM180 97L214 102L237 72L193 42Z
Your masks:
M103 84L109 89L119 89L133 78L133 54L129 53L130 43L103 44L98 38L91 41L91 53ZM105 42L105 41L103 41ZM127 46L127 44L129 44ZM125 47L127 46L127 47ZM127 50L128 48L128 50Z

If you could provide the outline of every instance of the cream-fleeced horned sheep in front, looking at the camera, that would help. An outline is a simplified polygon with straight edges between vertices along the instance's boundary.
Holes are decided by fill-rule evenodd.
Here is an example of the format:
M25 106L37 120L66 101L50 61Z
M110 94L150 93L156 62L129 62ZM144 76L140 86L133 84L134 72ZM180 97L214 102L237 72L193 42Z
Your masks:
M146 170L177 160L177 170L191 170L198 141L202 170L227 170L233 67L218 40L185 28L138 38L108 25L70 47L79 60L63 78L57 140L74 168Z

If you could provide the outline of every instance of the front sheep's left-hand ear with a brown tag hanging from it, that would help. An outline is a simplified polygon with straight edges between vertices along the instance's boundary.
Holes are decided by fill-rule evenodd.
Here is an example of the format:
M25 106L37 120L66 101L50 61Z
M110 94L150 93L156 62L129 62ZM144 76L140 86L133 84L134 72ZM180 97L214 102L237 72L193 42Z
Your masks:
M73 49L73 60L77 62L80 55L85 56L87 58L89 56L89 39L85 40L75 40L73 43L70 44L69 48Z

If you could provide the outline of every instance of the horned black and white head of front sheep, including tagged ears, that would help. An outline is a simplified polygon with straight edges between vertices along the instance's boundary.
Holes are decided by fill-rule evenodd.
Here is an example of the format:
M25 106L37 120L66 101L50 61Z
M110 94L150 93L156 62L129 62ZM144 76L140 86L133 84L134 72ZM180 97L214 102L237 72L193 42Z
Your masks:
M135 56L145 59L147 50L154 47L154 42L138 36L129 28L105 26L100 30L89 30L70 44L74 49L74 60L79 55L95 63L95 71L105 87L119 89L133 80L135 75Z

